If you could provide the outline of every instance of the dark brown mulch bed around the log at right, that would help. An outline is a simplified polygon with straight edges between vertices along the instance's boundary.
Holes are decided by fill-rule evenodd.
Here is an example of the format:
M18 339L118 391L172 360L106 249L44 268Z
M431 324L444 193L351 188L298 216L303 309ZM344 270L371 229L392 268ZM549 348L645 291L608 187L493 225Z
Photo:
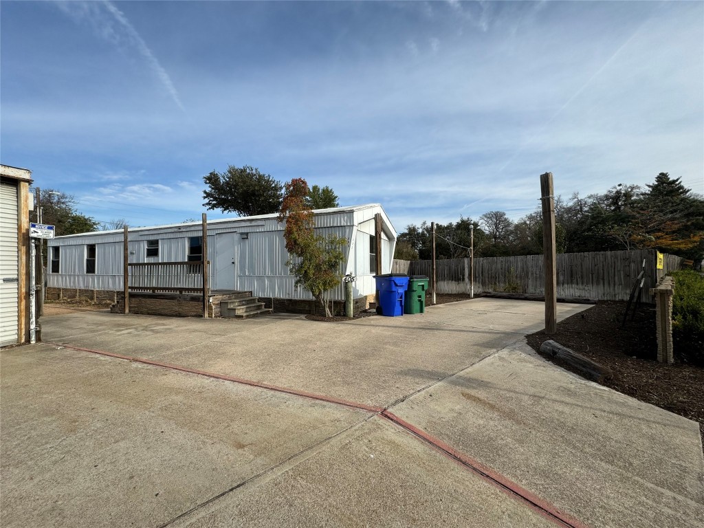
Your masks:
M624 328L620 320L626 303L599 302L596 306L558 322L558 332L548 336L536 332L528 344L540 353L543 341L553 339L562 346L601 363L614 373L601 384L623 394L652 403L699 422L704 435L704 368L694 365L658 363L655 308L643 305ZM541 356L579 374L562 361Z

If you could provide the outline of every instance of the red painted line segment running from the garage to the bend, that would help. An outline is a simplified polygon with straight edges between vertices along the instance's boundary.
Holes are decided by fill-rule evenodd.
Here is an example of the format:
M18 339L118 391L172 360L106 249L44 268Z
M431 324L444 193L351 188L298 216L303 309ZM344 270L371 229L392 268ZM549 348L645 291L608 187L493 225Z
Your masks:
M335 403L337 405L350 407L353 409L366 410L370 413L381 413L382 410L384 410L380 407L367 406L364 403L347 401L341 398L335 398L334 396L325 396L323 394L314 394L312 392L306 391L296 391L294 389L287 389L286 387L282 386L255 382L251 379L244 379L241 377L227 376L224 374L218 374L217 372L207 372L206 370L198 370L194 368L183 367L182 365L172 365L171 363L161 363L161 361L152 361L149 359L134 358L132 356L123 356L122 354L116 354L113 352L106 352L102 350L94 350L92 348L81 348L80 346L69 346L58 343L50 343L49 341L44 341L44 343L53 346L63 346L63 348L70 348L71 350L91 352L94 354L99 354L100 356L108 356L109 358L124 359L127 361L132 361L132 363L143 363L144 365L152 365L153 367L168 368L171 370L179 370L180 372L188 372L189 374L195 374L213 379L222 379L225 382L234 382L242 385L249 385L257 387L258 389L267 389L269 391L281 392L283 394L291 394L291 396L301 396L302 398L308 398L310 400L324 401L325 403Z

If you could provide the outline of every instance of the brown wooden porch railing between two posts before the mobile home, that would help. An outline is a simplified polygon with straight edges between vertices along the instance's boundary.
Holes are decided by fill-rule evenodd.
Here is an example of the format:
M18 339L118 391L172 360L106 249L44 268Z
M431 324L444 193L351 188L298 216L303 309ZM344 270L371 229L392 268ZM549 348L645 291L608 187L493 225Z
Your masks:
M203 293L203 262L130 263L130 291Z

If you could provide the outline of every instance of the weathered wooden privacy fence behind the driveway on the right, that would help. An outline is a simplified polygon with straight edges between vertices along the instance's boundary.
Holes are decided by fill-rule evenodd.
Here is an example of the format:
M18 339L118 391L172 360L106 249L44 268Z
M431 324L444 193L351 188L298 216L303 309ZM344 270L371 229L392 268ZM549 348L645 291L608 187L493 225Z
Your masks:
M641 301L651 303L650 288L667 272L681 268L681 258L665 254L665 269L655 269L655 251L560 253L557 256L558 297L627 301L645 260L646 284ZM430 277L430 260L394 260L392 272ZM436 261L437 293L470 293L470 259ZM504 291L543 295L543 256L474 258L474 293Z

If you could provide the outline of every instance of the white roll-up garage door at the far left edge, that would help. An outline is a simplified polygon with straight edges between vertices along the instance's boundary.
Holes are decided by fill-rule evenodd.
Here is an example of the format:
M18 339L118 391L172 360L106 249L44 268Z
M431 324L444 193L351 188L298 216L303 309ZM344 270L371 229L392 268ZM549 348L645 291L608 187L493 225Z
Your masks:
M17 192L17 185L0 184L0 346L19 341Z

